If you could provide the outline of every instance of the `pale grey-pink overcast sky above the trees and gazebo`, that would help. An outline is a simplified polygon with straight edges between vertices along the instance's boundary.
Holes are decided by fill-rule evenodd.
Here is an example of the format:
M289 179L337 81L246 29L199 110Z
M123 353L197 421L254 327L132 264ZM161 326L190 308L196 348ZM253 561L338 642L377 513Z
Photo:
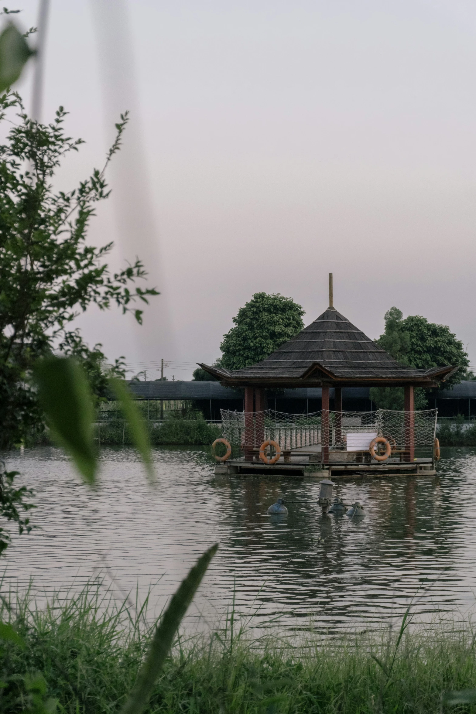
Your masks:
M124 2L125 24L118 0L51 5L44 119L64 104L87 141L58 184L101 164L116 106L131 109L90 236L117 241L115 266L140 250L163 293L139 336L91 310L88 341L211 362L253 293L293 297L309 323L331 271L370 337L396 305L449 325L476 363L474 2ZM21 6L35 24L36 1Z

